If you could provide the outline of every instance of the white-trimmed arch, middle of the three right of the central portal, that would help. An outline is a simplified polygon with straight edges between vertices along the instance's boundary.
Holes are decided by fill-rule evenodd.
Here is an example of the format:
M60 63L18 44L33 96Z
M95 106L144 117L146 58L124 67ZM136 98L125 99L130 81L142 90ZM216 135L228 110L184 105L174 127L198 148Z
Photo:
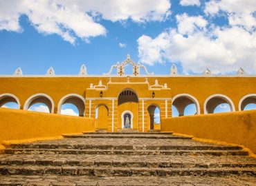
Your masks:
M223 103L228 103L230 106L230 111L235 112L235 105L232 102L232 100L223 94L213 94L209 96L206 100L205 103L203 104L203 110L204 114L212 114L214 113L214 109Z

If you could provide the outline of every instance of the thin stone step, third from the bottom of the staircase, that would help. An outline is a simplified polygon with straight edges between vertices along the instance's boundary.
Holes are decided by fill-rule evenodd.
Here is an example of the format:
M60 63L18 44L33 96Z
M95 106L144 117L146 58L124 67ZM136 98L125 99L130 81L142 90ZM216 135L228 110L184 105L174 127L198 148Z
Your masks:
M122 149L4 149L5 154L123 154L123 155L212 155L248 156L241 150L122 150Z

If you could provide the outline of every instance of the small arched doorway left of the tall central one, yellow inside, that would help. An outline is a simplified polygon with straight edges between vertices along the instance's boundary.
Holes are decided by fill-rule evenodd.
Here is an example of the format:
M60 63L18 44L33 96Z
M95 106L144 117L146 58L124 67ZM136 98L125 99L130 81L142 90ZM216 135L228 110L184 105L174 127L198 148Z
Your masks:
M100 104L95 109L95 128L96 130L107 130L109 120L109 108Z

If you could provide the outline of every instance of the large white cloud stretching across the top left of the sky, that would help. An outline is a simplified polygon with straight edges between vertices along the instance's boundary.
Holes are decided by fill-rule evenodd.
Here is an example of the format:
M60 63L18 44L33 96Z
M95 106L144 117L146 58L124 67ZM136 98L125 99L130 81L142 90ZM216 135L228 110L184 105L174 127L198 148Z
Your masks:
M135 22L163 21L170 14L168 0L154 1L0 1L0 30L21 32L19 17L26 14L30 23L42 34L59 34L65 41L75 43L77 38L89 41L90 37L106 34L96 21Z

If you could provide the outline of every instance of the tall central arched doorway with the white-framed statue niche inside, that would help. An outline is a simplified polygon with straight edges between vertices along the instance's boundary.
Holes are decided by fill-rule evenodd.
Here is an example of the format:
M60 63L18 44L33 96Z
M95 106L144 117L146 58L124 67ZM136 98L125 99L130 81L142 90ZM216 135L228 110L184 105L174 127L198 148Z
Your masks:
M118 129L138 129L138 96L129 88L118 95Z

